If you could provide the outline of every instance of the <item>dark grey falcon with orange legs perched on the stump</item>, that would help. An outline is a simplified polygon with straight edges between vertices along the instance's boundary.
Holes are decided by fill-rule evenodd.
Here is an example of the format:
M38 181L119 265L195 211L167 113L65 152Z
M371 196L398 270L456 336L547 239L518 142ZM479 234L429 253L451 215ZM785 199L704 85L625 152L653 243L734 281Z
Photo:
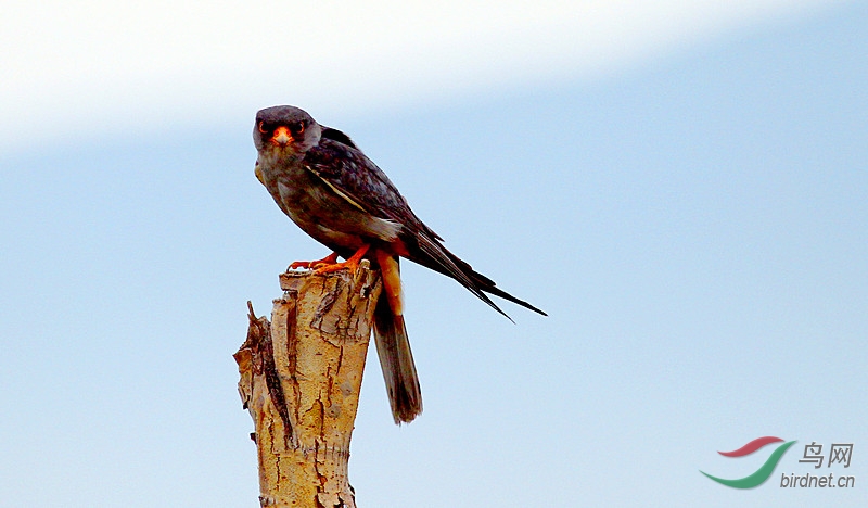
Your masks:
M385 173L341 130L318 124L298 107L278 105L256 114L253 140L257 179L284 214L332 251L322 259L294 262L290 269L355 271L363 258L379 267L385 299L374 307L373 335L395 423L409 423L422 412L404 320L401 257L455 279L510 320L488 294L546 316L449 252ZM339 256L345 261L339 263Z

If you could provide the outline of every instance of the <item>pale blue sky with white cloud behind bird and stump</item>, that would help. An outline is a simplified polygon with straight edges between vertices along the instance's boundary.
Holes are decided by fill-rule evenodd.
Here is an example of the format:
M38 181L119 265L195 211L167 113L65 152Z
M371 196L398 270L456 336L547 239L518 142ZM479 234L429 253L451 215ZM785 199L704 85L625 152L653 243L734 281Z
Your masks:
M5 56L0 505L257 506L245 302L268 314L278 272L326 254L253 177L255 111L292 103L550 315L505 304L512 325L407 266L425 412L392 423L371 356L359 506L865 506L868 10L603 3L407 9L431 27L386 36L359 8L305 11L291 40L336 39L275 66L244 36L276 38L225 7L153 25L162 42L119 22L82 42L22 7L67 43ZM761 435L799 440L766 484L699 473L754 471L769 450L716 450ZM778 486L814 472L812 441L855 443L822 468L855 488Z

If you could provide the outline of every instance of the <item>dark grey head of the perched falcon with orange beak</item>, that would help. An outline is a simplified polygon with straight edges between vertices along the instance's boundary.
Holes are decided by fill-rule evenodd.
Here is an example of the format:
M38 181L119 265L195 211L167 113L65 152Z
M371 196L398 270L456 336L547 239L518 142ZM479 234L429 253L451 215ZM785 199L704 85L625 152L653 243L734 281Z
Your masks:
M289 105L260 110L253 126L253 143L260 154L301 154L316 147L321 136L322 128L306 111Z

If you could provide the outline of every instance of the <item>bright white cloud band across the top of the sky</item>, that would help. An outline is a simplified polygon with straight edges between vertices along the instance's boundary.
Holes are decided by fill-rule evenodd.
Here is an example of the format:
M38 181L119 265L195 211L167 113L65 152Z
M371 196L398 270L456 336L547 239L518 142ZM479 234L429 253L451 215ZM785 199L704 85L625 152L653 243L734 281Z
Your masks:
M820 0L7 2L0 150L593 78ZM46 132L50 130L51 132Z

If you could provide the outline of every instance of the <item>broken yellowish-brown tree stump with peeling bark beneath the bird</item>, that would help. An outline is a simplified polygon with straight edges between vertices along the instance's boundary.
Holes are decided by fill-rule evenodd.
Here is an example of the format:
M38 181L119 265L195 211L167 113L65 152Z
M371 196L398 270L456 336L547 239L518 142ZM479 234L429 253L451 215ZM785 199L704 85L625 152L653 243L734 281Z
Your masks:
M250 306L247 339L234 354L239 394L253 418L263 507L355 508L347 480L380 279L281 274L271 321Z

